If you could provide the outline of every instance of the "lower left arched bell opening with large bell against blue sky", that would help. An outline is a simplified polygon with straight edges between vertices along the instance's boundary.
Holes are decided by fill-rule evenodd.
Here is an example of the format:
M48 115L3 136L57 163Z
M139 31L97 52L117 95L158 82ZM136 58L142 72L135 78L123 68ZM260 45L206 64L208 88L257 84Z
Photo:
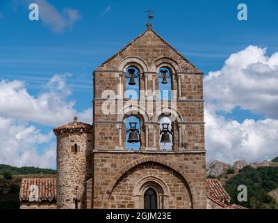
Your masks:
M140 119L136 116L130 116L125 119L126 123L126 141L125 146L127 149L139 150L140 144Z

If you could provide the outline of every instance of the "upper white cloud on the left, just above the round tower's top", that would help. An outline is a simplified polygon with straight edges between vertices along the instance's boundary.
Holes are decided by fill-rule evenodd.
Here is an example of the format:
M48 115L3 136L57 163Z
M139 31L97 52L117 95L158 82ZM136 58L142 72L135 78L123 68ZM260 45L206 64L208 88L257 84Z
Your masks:
M81 116L81 121L92 123L92 109L78 113L65 83L67 75L54 75L38 96L28 93L24 82L0 82L0 117L17 121L31 121L42 125L62 125Z

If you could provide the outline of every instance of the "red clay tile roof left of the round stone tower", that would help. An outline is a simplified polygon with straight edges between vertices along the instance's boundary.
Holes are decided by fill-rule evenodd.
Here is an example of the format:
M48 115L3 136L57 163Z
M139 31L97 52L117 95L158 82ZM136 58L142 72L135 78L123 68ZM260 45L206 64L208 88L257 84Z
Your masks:
M56 178L23 178L19 199L20 201L56 200Z

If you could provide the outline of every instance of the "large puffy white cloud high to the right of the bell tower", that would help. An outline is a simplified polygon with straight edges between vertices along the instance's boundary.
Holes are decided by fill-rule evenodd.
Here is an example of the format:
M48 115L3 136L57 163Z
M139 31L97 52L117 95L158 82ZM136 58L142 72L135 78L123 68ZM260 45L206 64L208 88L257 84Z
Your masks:
M221 70L204 78L204 96L215 109L231 112L237 106L278 118L278 53L249 46L231 54Z

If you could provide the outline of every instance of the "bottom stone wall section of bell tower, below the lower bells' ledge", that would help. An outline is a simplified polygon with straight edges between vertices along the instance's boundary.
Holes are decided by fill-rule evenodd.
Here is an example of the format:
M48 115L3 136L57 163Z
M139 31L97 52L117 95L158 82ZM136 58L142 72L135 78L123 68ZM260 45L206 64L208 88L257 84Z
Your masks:
M169 208L190 208L189 195L186 194L192 196L193 208L206 208L204 160L204 153L95 151L93 208L138 208L139 204L132 199L136 182L146 174L157 176L157 173L158 178L167 185L172 201L180 199L180 196L175 194L179 188L186 196L181 197L178 203L169 202ZM177 182L175 187L169 181L170 178ZM130 182L132 185L127 187L126 184ZM120 190L124 191L119 192ZM117 193L130 200L124 201L115 197Z

